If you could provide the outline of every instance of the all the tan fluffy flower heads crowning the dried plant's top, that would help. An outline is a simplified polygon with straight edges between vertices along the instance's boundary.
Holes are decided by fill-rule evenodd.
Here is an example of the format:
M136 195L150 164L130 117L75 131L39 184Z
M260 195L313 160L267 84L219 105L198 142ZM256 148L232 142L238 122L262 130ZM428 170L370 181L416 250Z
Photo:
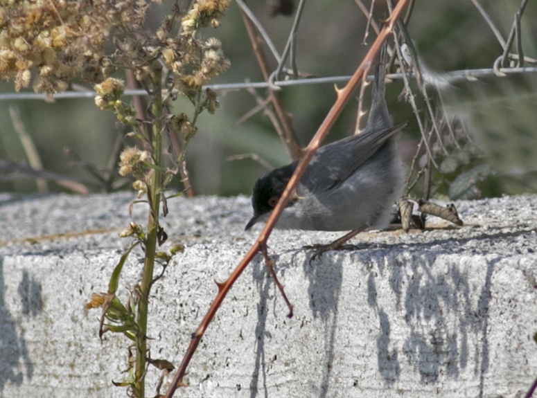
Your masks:
M152 36L142 28L148 8L144 0L0 0L0 77L14 79L17 91L33 80L35 91L55 93L67 89L73 78L103 83L116 66L132 69L142 82L152 78L152 61L160 58L173 73L173 88L197 102L202 85L230 62L220 40L203 42L195 32L218 26L229 2L197 0L186 15L175 9ZM115 51L109 46L106 53L112 37ZM213 113L218 108L212 93L202 100L203 109ZM99 94L96 104L116 111L123 123L135 123L132 111L120 102Z

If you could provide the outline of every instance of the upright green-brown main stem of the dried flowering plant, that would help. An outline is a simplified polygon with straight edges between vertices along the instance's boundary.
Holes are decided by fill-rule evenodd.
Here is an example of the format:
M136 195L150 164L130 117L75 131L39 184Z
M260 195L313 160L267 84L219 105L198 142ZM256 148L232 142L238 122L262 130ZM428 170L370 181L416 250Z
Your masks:
M153 265L155 264L155 251L157 250L157 232L159 226L159 199L162 184L162 96L161 96L161 79L162 68L155 63L154 66L155 85L153 89L153 98L151 105L152 112L152 132L151 132L151 149L155 165L159 166L153 170L150 177L150 206L152 206L148 219L148 232L146 240L146 260L143 264L143 275L140 284L140 302L138 304L138 325L140 328L137 337L136 365L134 373L134 392L135 396L143 398L145 396L145 378L146 378L146 351L147 351L147 328L148 328L148 302L149 291L153 279Z

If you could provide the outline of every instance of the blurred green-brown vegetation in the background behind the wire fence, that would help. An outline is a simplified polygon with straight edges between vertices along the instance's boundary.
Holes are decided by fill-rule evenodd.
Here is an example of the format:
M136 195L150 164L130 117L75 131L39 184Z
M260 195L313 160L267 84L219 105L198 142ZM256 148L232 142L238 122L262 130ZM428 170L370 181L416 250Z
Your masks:
M364 3L369 7L369 1ZM482 0L480 3L504 38L507 37L520 0ZM270 17L264 1L250 1L248 5L282 51L292 26L292 16ZM158 26L166 7L170 6L172 4L167 5L166 2L164 6L153 5L148 24ZM186 1L179 1L179 6L184 9ZM377 21L388 15L385 7L384 1L376 2L373 16ZM367 19L353 0L308 1L297 35L299 70L315 77L351 75L367 51L367 46L362 44L366 25ZM536 58L535 1L529 1L521 26L525 55ZM408 30L423 64L436 73L489 69L503 52L470 0L416 1ZM231 3L222 19L222 26L206 34L222 40L222 48L231 60L229 71L213 83L263 81L236 3ZM368 44L374 37L371 32ZM272 57L269 57L269 64L272 69L276 68ZM121 75L118 74L118 77L121 78ZM80 84L91 88L91 84ZM400 150L405 161L410 163L419 143L419 131L412 108L400 96L402 90L401 81L388 84L387 102L394 123L409 123L409 129L400 141ZM12 91L12 82L0 82L1 93ZM263 98L266 95L263 89L257 92ZM441 170L433 174L433 194L442 199L457 199L535 192L536 93L537 73L504 78L493 76L478 81L460 80L443 89L442 96L450 116L457 116L465 123L474 145L462 143L462 150L449 148L450 156L443 159ZM305 146L333 105L333 84L287 87L279 95L292 118L299 144ZM219 91L218 96L222 109L214 116L201 116L200 132L188 147L187 165L193 188L197 195L249 195L254 182L267 172L267 167L251 157L232 159L232 156L256 154L271 167L279 167L291 159L263 111L238 123L257 106L251 93L228 90ZM178 98L173 113L191 109L185 101ZM366 98L364 103L367 109L369 99ZM328 141L353 133L357 105L357 99L349 102ZM419 103L419 106L423 107L423 104ZM76 179L90 192L103 190L88 170L102 173L110 164L117 163L116 159L111 161L111 156L118 134L123 136L124 132L116 125L114 114L100 111L93 98L0 101L0 161L17 163L28 159L14 127L10 107L18 110L19 120L31 137L44 170ZM468 195L460 195L461 190L457 190L457 195L451 195L453 191L450 192L450 189L454 189L452 183L460 176L463 178L459 178L459 182L464 180L462 183L467 185L468 181L472 182L472 190L467 192ZM66 191L64 186L53 181L49 181L48 186L51 192ZM175 177L171 187L182 190L180 176ZM130 184L123 185L121 189L131 189ZM0 191L37 192L37 184L33 177L8 173L0 168Z

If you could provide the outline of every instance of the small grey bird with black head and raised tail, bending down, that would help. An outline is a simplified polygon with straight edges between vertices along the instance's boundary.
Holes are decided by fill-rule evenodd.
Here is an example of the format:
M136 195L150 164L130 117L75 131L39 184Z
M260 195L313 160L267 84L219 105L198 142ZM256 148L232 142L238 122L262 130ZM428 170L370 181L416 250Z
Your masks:
M405 125L394 127L387 109L386 53L385 45L375 67L371 109L364 131L315 152L275 228L351 230L354 236L362 230L382 229L389 224L392 204L403 190L405 173L396 136ZM294 161L276 168L256 181L252 192L254 216L246 230L267 220L297 164ZM331 250L338 241L319 246Z

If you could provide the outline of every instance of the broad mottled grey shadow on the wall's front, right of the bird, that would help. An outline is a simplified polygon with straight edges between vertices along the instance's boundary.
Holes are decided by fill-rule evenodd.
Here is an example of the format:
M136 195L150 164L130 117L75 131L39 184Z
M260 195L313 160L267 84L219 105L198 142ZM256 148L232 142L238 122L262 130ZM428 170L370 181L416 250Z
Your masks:
M457 379L459 372L468 366L468 356L473 355L473 373L479 377L479 397L482 397L484 374L488 370L491 276L500 260L486 261L481 293L477 303L475 299L472 303L468 275L461 273L459 262L450 265L447 274L439 275L432 272L437 254L427 255L425 251L411 253L410 258L404 251L391 251L385 257L389 261L384 264L374 264L371 252L360 251L356 255L364 264L373 264L367 280L367 301L370 307L376 308L379 316L378 370L385 383L390 385L399 377L400 359L395 348L389 350L389 316L377 305L376 267L380 274L389 273L388 282L394 293L396 309L403 310L408 328L402 351L419 372L421 381L434 383L440 374ZM457 319L455 328L447 327L448 315ZM468 352L469 338L474 342L473 353Z

